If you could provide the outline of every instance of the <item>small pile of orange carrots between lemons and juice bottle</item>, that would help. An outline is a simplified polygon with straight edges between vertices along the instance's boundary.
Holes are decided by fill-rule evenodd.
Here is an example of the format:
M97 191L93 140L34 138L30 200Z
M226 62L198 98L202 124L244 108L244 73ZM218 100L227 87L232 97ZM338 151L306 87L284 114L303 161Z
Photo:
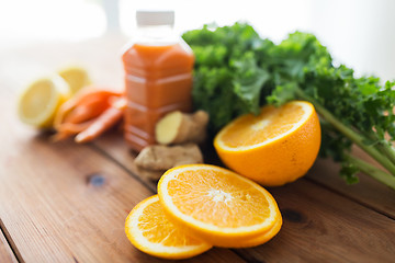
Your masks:
M86 87L65 102L56 113L53 139L77 135L77 142L87 142L114 126L123 117L125 99L121 92Z

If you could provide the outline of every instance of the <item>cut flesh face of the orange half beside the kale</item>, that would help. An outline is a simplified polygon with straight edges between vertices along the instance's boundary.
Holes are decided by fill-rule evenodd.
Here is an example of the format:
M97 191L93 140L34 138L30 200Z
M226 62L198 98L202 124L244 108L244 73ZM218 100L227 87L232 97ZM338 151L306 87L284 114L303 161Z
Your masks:
M285 104L281 108L263 107L258 118L251 114L236 121L235 125L222 135L222 141L234 148L261 144L293 128L303 117L303 113L302 106L296 104Z

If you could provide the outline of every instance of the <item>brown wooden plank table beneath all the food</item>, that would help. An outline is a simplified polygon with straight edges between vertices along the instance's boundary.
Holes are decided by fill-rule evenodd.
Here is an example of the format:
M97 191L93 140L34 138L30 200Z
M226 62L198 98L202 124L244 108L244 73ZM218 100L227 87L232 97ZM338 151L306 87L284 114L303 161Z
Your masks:
M18 92L68 64L99 84L122 87L120 49L108 35L0 50L0 262L161 262L126 239L124 220L156 192L134 165L120 130L93 144L53 144L21 124ZM211 158L207 158L211 159ZM218 249L190 262L395 262L395 191L361 174L349 186L338 165L317 160L295 183L269 188L284 218L280 233L251 249Z

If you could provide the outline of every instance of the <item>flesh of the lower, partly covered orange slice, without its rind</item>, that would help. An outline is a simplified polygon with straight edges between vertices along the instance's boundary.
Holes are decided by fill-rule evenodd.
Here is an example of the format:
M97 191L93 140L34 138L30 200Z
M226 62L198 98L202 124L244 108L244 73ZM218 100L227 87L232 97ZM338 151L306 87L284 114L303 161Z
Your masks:
M202 241L187 237L184 231L167 219L159 199L145 207L143 215L138 218L138 228L147 240L166 247L202 244Z

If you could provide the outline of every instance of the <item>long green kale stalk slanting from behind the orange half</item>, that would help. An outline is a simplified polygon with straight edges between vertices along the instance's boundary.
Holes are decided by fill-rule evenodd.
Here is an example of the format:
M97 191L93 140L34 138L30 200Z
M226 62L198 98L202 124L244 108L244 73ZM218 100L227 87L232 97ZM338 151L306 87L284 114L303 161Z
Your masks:
M347 127L340 121L338 121L329 111L323 107L318 102L306 95L301 89L296 90L296 95L303 100L309 101L314 104L318 114L324 117L328 123L334 125L340 133L351 139L356 145L358 145L362 150L373 157L379 163L381 163L388 172L395 175L395 164L386 156L381 153L374 146L365 145L364 137L357 134L353 129Z

